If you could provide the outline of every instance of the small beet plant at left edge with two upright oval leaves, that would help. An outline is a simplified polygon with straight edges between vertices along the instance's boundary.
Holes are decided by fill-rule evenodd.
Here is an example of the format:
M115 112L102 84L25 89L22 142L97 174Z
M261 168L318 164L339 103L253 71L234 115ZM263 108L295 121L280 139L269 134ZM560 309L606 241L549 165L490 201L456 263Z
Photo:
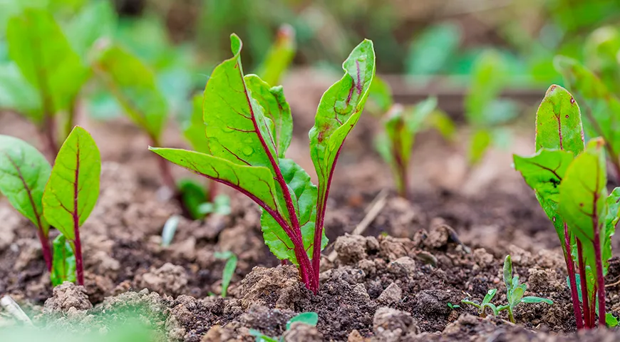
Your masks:
M28 143L0 135L0 192L37 227L54 285L75 279L84 284L79 228L99 195L100 164L95 141L78 126L61 146L53 167ZM53 249L50 227L62 233Z

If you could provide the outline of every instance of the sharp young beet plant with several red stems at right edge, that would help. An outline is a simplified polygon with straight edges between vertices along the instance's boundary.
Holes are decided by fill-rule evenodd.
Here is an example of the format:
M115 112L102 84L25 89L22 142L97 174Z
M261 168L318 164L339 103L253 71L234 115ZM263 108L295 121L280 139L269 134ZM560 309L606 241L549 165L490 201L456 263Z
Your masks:
M584 148L583 137L577 101L564 88L551 86L537 111L537 152L532 157L515 155L515 169L536 193L562 243L577 328L591 328L596 307L599 326L605 324L604 276L620 189L607 196L604 140L595 138Z

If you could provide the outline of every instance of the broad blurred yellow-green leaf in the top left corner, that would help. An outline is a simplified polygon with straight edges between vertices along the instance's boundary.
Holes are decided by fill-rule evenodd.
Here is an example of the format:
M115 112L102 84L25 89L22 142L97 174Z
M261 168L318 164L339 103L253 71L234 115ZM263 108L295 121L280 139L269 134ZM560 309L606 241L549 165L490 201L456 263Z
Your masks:
M50 115L68 110L88 78L88 68L44 9L25 9L6 28L9 56L38 90Z

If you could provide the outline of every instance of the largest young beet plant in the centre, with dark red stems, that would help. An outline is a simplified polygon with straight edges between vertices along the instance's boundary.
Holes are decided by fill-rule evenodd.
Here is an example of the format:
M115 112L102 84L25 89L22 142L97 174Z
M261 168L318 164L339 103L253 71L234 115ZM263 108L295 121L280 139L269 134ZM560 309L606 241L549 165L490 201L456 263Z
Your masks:
M215 68L205 88L203 112L208 152L150 147L177 165L242 192L263 209L265 243L279 259L299 267L301 280L319 290L319 261L331 177L343 142L356 125L375 73L373 43L365 40L344 61L345 75L321 98L310 130L318 188L284 157L292 117L281 87L244 76L242 42L231 36L234 56Z

